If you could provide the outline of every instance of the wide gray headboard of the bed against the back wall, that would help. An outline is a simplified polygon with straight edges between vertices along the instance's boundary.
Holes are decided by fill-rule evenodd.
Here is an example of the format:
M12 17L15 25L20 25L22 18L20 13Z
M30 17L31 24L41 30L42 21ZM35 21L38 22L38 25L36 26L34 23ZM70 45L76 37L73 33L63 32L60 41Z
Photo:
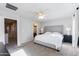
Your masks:
M45 26L44 33L45 32L59 32L63 34L63 25Z

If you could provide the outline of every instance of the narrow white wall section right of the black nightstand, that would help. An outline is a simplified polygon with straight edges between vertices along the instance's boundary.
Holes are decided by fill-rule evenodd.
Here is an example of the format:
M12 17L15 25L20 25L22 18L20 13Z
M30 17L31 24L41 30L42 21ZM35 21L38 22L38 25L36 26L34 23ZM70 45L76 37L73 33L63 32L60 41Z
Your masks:
M75 16L72 17L72 46L77 47L78 43L78 13L75 13Z

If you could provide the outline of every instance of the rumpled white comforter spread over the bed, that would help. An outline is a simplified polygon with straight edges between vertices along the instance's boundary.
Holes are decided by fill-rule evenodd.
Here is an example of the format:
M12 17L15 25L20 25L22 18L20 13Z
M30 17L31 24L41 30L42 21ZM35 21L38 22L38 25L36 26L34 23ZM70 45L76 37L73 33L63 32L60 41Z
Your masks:
M63 35L57 32L46 32L45 34L37 35L35 40L55 45L57 49L62 46Z

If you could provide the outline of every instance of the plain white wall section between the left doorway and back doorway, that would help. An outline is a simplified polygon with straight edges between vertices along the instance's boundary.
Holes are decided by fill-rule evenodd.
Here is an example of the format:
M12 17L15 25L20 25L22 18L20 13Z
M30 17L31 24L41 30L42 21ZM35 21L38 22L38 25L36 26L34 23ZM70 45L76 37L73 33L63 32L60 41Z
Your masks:
M19 43L22 44L28 41L32 41L32 21L30 19L22 19L21 24L22 39L19 40Z

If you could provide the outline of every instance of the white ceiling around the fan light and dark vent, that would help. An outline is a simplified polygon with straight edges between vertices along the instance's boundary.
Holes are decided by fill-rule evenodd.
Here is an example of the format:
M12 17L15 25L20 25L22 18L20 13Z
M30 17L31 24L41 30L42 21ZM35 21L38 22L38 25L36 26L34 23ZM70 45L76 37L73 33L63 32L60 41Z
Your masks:
M11 3L18 7L17 11L5 8L5 3L0 3L0 10L13 12L21 17L37 20L35 12L42 10L45 13L45 20L53 20L61 17L71 17L79 4L73 3Z

